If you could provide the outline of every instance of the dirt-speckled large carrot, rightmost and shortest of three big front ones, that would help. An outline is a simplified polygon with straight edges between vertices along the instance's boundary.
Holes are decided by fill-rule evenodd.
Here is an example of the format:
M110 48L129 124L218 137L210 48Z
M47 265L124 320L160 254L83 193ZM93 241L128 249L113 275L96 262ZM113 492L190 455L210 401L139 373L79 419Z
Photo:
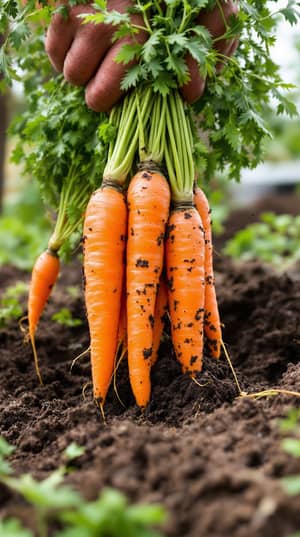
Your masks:
M183 373L202 367L204 323L204 233L192 204L172 211L166 240L169 311L174 349Z

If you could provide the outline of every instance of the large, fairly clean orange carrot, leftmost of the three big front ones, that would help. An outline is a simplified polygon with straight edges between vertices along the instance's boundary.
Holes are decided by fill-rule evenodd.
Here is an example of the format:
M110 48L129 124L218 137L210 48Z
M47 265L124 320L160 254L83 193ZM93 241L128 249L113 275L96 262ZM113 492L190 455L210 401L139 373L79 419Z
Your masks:
M83 229L93 393L101 408L112 378L117 349L126 227L124 195L117 185L104 182L91 196Z

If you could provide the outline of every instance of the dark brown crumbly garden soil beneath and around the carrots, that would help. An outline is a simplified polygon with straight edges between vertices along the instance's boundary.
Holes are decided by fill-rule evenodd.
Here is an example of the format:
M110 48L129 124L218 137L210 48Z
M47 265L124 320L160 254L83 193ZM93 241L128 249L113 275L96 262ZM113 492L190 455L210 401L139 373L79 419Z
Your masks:
M271 201L250 208L248 216L257 219ZM291 212L293 203L277 199L277 212ZM241 221L245 225L241 213L233 214L227 235ZM221 243L215 267L223 337L242 390L300 392L297 271L278 275L258 262L233 264L220 253ZM0 270L2 289L18 279L28 280L28 274ZM181 374L166 335L147 412L136 408L121 364L117 386L124 406L111 389L104 423L92 401L88 355L71 370L74 357L89 345L82 293L72 298L68 292L74 285L81 285L79 262L62 270L40 322L43 386L18 323L0 329L0 433L16 446L15 472L46 477L75 441L85 453L67 482L87 499L113 486L131 501L161 502L169 512L167 537L288 537L299 530L300 497L288 497L281 478L299 474L300 459L282 450L279 420L300 400L283 394L238 397L225 357L205 356L196 384ZM83 324L66 328L50 321L62 307ZM32 525L29 507L1 486L0 516L8 515Z

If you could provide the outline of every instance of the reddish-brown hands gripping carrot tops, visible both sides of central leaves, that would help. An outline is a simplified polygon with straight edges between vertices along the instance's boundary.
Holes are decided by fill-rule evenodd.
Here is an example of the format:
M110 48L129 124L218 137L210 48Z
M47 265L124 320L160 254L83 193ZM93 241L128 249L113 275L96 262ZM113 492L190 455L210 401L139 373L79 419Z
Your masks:
M108 9L124 12L130 0L108 0ZM221 1L220 9L203 10L198 23L205 25L213 38L225 32L223 16L226 20L236 13L237 7L231 0ZM93 8L80 5L69 10L68 19L56 14L49 26L46 37L46 51L53 67L64 74L65 79L76 86L85 86L85 98L89 108L97 112L108 111L121 97L121 80L128 65L114 61L120 48L129 38L112 43L115 27L106 24L82 24L78 17L81 13L92 13ZM139 16L133 16L136 24L142 25ZM147 33L141 31L136 39L144 42ZM216 49L229 56L237 46L237 41L220 40ZM192 103L199 99L205 89L205 80L199 75L199 69L192 57L187 57L191 80L181 88L183 97Z

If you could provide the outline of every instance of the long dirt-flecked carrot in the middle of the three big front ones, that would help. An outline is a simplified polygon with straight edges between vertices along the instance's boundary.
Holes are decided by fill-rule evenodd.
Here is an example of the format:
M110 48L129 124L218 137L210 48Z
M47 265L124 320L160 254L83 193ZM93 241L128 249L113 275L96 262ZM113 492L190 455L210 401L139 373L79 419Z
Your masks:
M155 302L170 204L165 177L158 171L140 170L129 184L127 200L128 367L136 402L145 408L151 392Z

